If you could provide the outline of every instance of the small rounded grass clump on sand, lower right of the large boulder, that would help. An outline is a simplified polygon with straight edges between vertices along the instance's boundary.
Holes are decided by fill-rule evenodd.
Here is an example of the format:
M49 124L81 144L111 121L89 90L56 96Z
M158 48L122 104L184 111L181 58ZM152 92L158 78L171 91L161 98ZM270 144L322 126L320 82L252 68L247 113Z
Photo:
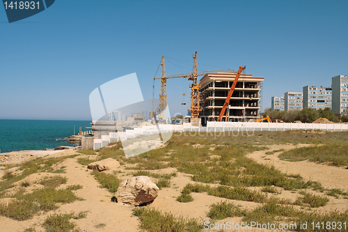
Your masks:
M235 206L233 203L220 202L217 204L212 204L208 212L208 217L211 219L224 219L226 217L243 217L246 215L246 210Z

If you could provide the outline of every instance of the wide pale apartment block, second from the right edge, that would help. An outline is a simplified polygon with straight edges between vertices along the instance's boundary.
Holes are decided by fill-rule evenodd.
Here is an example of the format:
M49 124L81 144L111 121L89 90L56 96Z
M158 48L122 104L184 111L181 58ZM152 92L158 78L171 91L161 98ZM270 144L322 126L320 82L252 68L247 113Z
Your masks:
M331 87L303 86L303 109L325 109L331 108L331 105Z

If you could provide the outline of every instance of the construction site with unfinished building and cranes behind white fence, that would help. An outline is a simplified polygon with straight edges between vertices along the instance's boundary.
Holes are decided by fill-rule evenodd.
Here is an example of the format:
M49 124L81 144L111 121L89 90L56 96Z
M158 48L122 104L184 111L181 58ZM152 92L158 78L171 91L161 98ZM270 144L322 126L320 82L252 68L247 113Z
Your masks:
M264 77L253 77L245 74L245 66L239 70L205 70L198 72L197 52L193 53L192 72L167 75L164 56L161 58L161 77L153 79L153 88L160 88L159 102L152 111L137 112L111 111L99 121L93 121L88 127L92 136L100 138L102 134L120 132L132 127L143 125L182 124L191 123L193 126L206 126L208 121L247 122L260 118L262 106L262 82ZM157 70L158 71L158 70ZM166 114L167 82L173 78L184 78L189 82L191 95L187 103L187 116L172 118ZM160 81L158 86L156 80ZM185 96L185 93L183 93ZM182 102L186 105L186 102ZM157 106L157 107L156 107Z

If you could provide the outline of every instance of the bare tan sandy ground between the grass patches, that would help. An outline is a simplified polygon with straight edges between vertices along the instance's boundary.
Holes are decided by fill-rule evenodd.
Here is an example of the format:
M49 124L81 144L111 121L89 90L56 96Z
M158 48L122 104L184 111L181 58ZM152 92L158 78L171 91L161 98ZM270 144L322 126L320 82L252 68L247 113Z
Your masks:
M273 145L269 146L271 150L282 149L291 149L299 146L308 146L308 145ZM301 162L287 162L279 160L279 153L274 153L272 155L266 155L265 153L269 150L255 151L251 154L248 154L248 157L251 159L262 163L269 164L276 167L280 171L285 173L294 173L301 174L305 180L315 180L319 183L322 183L324 187L329 188L341 188L343 190L348 190L348 170L342 167L332 167L325 164L316 164L308 161ZM29 153L36 154L35 156L30 156ZM32 159L34 157L45 156L48 157L59 157L75 154L74 150L58 150L58 151L38 151L34 153L33 151L26 151L26 159ZM16 155L24 155L22 153L16 153ZM141 231L139 229L139 219L135 216L132 216L132 206L127 206L122 203L113 203L111 202L111 197L113 194L108 192L106 189L99 187L99 183L90 175L90 170L86 166L82 166L77 162L77 158L86 157L86 155L79 155L74 158L68 158L61 163L55 164L54 169L59 169L60 167L65 166L66 173L60 174L61 176L66 176L68 178L68 183L61 185L61 187L66 187L67 185L82 185L81 190L75 191L78 197L86 199L86 201L74 201L73 203L63 204L58 208L58 210L50 211L47 213L42 212L41 215L36 215L33 219L26 220L24 222L19 222L14 219L9 219L7 217L0 216L1 231L24 231L24 229L35 225L36 231L45 231L40 224L47 217L53 213L63 213L63 212L86 212L87 217L84 219L73 219L80 231ZM21 162L22 160L17 160ZM12 163L15 161L12 161ZM124 180L129 178L132 173L131 170L125 169L125 166L120 167L121 173L118 173L118 178ZM177 172L177 169L168 168L152 171L154 173L173 173ZM0 176L3 175L3 171L0 171ZM29 181L31 183L44 176L58 175L54 173L35 173L31 176L26 177L22 181ZM155 178L152 178L152 181L155 182ZM226 201L226 199L221 199L216 196L209 196L206 193L191 193L194 201L189 203L180 203L176 201L177 196L180 196L180 192L187 183L193 183L189 174L177 172L177 176L171 179L171 187L164 188L159 190L159 196L151 204L153 208L157 208L163 212L171 212L177 217L193 217L203 222L209 222L210 219L207 217L207 212L209 211L209 206L213 203L219 203L221 201ZM20 182L17 183L19 186ZM216 186L216 185L212 185ZM33 185L35 187L35 185ZM255 190L260 190L260 187L254 187ZM310 190L308 190L310 192ZM315 194L319 194L315 192ZM324 196L324 194L322 194ZM281 194L278 195L281 198L288 198L295 200L298 193L282 190ZM330 202L324 206L317 209L318 212L327 212L329 210L339 210L341 212L347 210L347 200L335 199L333 196L329 196ZM260 203L248 202L248 201L235 201L227 200L235 203L236 205L242 206L244 208L253 209L260 205ZM8 199L1 199L1 203L8 202ZM226 218L223 220L216 221L217 223L223 222L234 222L242 223L241 217ZM105 224L104 227L98 227L100 224ZM210 231L210 230L203 230ZM219 231L219 230L212 230ZM233 230L229 230L233 231ZM243 230L248 231L248 230ZM253 230L255 231L255 230ZM267 230L264 230L267 231Z

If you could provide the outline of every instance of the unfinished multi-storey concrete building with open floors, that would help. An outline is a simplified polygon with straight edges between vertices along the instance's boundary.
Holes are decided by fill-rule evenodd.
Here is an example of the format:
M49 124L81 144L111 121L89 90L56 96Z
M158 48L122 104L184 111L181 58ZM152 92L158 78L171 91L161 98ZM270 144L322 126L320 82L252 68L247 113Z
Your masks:
M200 79L200 118L217 121L230 87L232 73L207 73ZM260 116L261 86L264 77L240 75L226 109L228 121L251 121Z

